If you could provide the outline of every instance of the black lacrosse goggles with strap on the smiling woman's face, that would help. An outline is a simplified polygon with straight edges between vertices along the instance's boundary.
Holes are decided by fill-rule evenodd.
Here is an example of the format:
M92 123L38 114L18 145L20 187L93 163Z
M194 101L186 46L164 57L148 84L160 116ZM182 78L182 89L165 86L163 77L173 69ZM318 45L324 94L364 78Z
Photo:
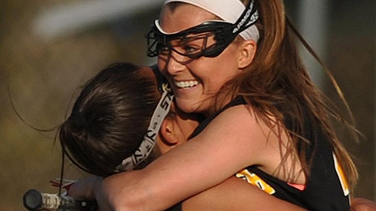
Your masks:
M155 57L163 51L168 52L169 55L171 51L174 51L189 59L198 59L202 56L216 57L229 46L237 35L253 25L258 18L259 15L254 6L254 0L251 0L243 14L235 23L217 20L205 21L200 25L177 33L165 33L160 27L159 21L155 20L154 24L151 26L151 30L146 35L148 46L147 56ZM188 35L190 35L190 37L188 37ZM210 36L213 36L215 43L207 46L207 39ZM204 39L204 44L199 52L181 52L176 50L174 45L171 44L171 41L184 41L184 43L186 43L195 39Z

